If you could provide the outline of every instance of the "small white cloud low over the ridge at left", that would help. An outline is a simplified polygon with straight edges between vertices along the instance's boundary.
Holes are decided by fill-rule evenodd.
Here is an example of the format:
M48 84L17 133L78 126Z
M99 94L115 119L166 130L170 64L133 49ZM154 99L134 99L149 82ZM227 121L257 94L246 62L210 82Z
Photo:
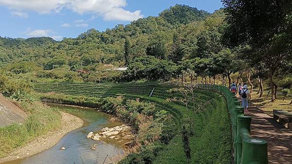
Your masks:
M41 37L41 36L52 37L55 40L60 40L63 38L62 36L55 36L54 35L55 32L53 30L50 30L50 29L46 29L46 30L38 29L38 30L33 30L33 31L31 29L28 29L25 32L25 34L28 37Z

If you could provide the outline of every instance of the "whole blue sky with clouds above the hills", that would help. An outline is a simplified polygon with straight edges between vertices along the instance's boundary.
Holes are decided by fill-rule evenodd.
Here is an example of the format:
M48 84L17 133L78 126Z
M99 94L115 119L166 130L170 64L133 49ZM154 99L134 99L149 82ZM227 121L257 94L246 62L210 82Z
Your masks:
M222 7L220 0L0 0L0 36L60 40L90 28L105 31L118 23L158 16L177 3L211 13Z

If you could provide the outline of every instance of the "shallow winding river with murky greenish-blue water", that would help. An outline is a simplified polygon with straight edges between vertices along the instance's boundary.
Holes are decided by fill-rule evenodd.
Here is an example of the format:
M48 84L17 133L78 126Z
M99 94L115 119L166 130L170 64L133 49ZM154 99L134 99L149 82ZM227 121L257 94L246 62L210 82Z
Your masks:
M82 164L79 156L81 156L84 164L95 164L97 153L99 158L97 164L102 164L107 155L109 155L108 159L115 159L123 154L122 146L103 141L96 142L86 138L90 131L96 132L105 127L119 126L122 125L122 122L110 122L109 114L97 112L93 109L82 109L54 103L47 104L81 118L84 120L84 126L67 133L57 145L46 151L4 164ZM98 144L96 149L91 149L94 144ZM61 147L66 149L60 150ZM109 162L107 160L106 163Z

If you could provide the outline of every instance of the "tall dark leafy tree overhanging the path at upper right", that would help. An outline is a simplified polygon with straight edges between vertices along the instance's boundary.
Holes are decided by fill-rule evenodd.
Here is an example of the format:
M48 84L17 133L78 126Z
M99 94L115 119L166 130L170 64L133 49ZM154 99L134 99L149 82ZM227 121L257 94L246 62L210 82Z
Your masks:
M277 85L273 81L280 64L292 58L291 48L283 34L286 15L291 14L291 0L222 0L229 28L231 46L248 44L251 51L267 66L272 101Z

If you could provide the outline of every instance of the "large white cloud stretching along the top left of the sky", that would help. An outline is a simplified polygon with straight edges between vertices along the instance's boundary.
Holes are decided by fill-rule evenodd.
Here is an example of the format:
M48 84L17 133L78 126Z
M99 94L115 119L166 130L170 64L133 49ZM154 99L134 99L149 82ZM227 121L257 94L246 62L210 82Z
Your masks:
M0 5L13 11L35 11L40 14L60 12L68 8L76 13L95 13L105 20L131 21L142 18L141 11L123 9L126 0L0 0Z

